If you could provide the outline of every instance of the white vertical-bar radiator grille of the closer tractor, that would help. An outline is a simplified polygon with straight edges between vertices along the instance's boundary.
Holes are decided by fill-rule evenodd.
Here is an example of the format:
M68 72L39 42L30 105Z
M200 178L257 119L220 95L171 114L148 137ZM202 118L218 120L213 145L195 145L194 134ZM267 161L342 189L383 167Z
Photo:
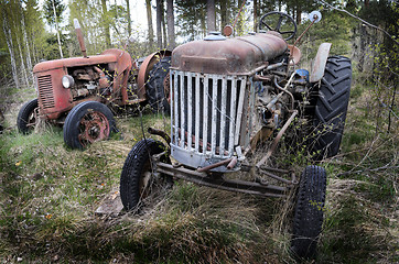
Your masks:
M172 151L181 163L235 155L239 142L246 77L171 70ZM193 158L194 157L194 158Z

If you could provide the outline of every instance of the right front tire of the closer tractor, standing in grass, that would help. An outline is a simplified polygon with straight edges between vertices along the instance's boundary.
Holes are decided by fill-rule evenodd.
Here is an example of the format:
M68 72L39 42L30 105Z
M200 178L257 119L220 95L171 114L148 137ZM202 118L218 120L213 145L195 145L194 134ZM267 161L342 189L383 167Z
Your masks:
M308 166L300 179L293 218L291 251L296 257L315 256L323 224L325 189L325 169Z

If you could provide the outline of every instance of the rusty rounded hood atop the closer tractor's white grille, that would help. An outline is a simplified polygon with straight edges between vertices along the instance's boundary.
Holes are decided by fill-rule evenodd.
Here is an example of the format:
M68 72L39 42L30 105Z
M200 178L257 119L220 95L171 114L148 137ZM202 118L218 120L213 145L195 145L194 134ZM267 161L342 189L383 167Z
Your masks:
M252 75L287 48L285 41L276 32L234 38L214 33L203 41L176 47L171 68L202 74Z

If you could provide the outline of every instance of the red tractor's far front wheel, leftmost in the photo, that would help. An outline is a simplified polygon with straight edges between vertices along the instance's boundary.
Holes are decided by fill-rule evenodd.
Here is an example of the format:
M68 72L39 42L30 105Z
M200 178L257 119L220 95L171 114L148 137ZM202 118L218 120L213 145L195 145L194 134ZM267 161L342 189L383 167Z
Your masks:
M39 110L37 98L30 100L29 102L25 102L22 106L17 118L17 127L21 133L28 134L32 130L34 130L34 127L37 121L37 110Z

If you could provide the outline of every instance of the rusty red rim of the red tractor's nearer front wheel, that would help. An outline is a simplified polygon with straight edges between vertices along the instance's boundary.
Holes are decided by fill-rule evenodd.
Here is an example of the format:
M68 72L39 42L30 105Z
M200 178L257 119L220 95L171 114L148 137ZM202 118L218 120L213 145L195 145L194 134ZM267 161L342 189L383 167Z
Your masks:
M109 121L98 111L88 112L80 119L78 139L83 146L109 136Z

